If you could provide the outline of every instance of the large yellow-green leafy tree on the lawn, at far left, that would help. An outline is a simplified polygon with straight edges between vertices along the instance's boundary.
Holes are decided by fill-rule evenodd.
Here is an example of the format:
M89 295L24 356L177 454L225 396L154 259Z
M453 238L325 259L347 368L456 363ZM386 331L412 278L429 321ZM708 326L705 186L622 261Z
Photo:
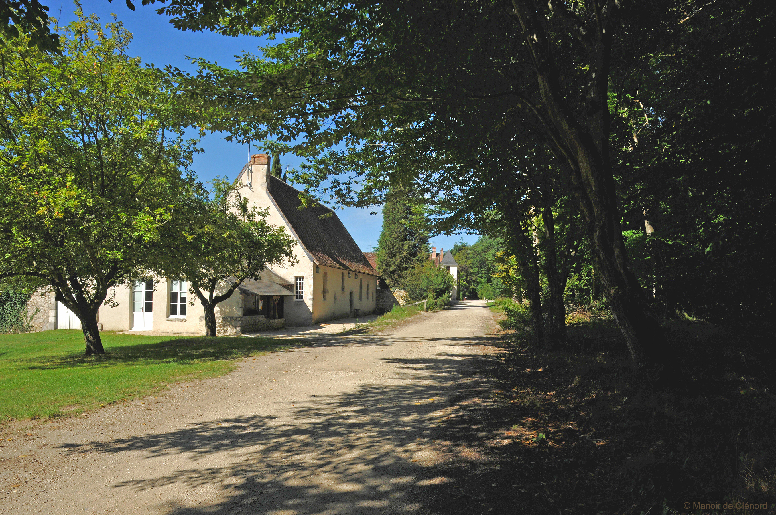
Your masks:
M93 35L93 36L92 36ZM78 10L62 54L0 47L0 277L54 288L102 354L97 310L165 256L159 229L192 180L187 112L164 74L126 54L130 33Z

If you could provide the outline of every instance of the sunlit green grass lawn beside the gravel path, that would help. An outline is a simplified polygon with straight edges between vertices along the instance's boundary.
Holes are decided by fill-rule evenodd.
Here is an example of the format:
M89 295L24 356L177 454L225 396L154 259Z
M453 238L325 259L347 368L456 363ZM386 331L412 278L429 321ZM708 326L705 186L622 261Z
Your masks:
M2 420L82 413L170 382L223 375L235 358L284 348L268 337L101 337L106 354L87 357L80 330L0 334Z

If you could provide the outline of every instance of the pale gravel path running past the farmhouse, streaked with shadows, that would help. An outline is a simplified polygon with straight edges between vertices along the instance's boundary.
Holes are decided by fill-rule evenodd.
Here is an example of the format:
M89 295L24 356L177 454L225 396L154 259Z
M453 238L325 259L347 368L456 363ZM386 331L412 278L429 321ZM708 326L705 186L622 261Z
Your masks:
M45 423L3 442L0 513L506 513L473 491L501 466L476 443L493 330L459 302Z

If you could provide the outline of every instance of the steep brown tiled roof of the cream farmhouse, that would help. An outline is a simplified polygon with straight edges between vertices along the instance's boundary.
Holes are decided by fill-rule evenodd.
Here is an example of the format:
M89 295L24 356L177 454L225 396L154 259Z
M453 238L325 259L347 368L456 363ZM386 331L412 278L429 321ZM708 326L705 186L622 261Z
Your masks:
M334 211L320 204L297 209L301 205L299 192L275 176L268 193L317 264L377 275ZM322 215L326 216L320 218Z

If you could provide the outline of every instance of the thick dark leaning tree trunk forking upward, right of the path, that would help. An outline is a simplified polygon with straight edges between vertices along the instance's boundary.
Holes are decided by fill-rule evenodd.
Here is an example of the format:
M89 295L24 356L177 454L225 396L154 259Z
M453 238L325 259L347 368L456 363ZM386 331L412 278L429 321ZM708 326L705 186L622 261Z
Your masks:
M535 113L544 123L550 149L569 165L573 193L591 229L594 260L611 312L636 365L663 361L667 350L665 335L628 268L609 159L608 80L615 31L611 12L616 5L608 2L603 9L603 5L592 2L597 26L587 30L563 2L549 3L560 22L587 50L586 105L581 106L582 112L575 112L560 85L553 44L548 40L546 19L537 9L538 4L533 0L512 2L533 57L542 99L541 106L535 105Z

